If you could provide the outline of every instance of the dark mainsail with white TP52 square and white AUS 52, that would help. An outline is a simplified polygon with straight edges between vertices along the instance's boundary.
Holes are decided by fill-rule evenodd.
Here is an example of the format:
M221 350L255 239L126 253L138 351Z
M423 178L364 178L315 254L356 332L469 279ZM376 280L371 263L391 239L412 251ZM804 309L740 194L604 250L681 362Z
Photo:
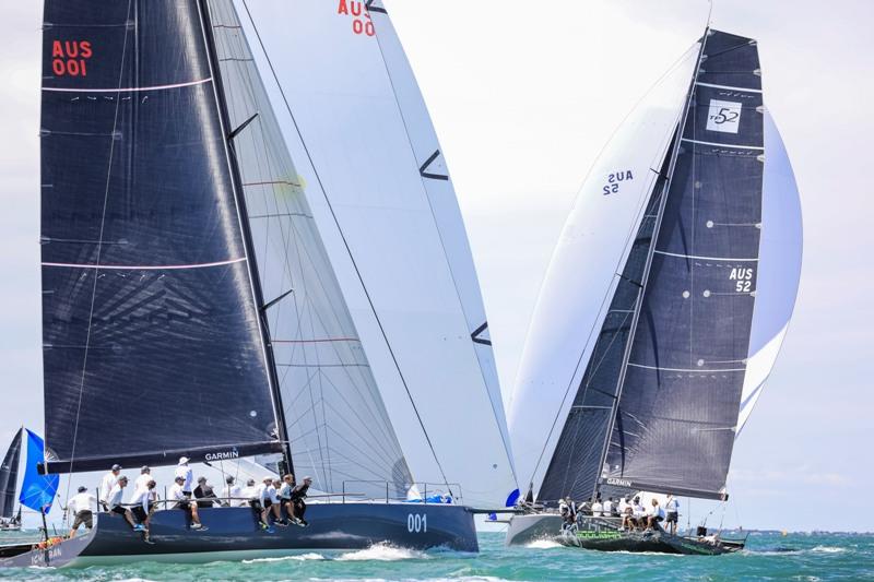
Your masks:
M606 451L610 485L724 498L758 271L755 40L708 31Z

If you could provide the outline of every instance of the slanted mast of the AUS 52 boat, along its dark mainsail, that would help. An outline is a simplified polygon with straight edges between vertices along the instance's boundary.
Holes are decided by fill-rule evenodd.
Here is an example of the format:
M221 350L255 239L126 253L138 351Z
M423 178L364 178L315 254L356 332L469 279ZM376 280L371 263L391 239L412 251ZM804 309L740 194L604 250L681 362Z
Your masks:
M683 119L677 124L677 130L674 138L674 144L671 151L671 162L669 165L668 175L664 179L664 182L662 183L662 194L661 194L661 200L659 201L659 211L657 213L656 225L653 226L652 229L649 250L647 252L647 261L646 261L646 266L643 268L643 276L641 277L640 287L638 288L637 292L637 300L635 301L635 308L634 308L635 312L631 317L631 325L630 325L630 332L628 334L628 341L625 344L625 353L623 354L623 363L619 371L619 378L617 381L618 388L616 390L616 395L613 400L613 409L611 411L610 420L607 423L607 430L604 435L604 443L601 448L601 462L599 463L600 471L603 471L603 466L607 458L607 451L610 449L610 441L613 437L613 429L615 427L616 415L618 414L619 401L622 400L622 392L625 384L626 372L628 369L628 360L631 357L631 347L634 346L635 343L635 335L637 333L637 326L640 320L640 311L643 307L643 296L647 290L647 284L649 283L650 270L652 268L652 257L656 252L656 245L658 244L659 240L659 230L661 228L662 217L664 216L664 209L668 203L668 194L671 189L671 181L674 175L674 169L676 167L677 156L680 155L680 147L682 144L683 132L686 128L686 121L688 120L692 99L694 98L695 95L695 82L698 79L698 72L701 67L701 57L704 56L705 47L707 46L707 37L709 33L710 33L710 26L708 25L705 28L704 37L701 38L701 47L698 50L698 58L695 66L695 72L692 75L692 81L689 82L689 88L686 93L686 100L683 107ZM595 480L594 489L592 490L592 497L595 497L598 495L599 486L600 486L599 480Z

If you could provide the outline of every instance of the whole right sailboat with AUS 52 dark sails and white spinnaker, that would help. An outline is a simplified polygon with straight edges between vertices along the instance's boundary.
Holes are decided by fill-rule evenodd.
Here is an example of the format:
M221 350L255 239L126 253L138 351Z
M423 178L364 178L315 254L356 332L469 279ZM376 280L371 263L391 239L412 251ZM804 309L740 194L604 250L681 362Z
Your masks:
M765 108L757 43L708 28L595 163L562 235L510 407L525 514L508 544L743 547L621 518L563 524L562 499L727 500L732 448L786 335L798 189Z

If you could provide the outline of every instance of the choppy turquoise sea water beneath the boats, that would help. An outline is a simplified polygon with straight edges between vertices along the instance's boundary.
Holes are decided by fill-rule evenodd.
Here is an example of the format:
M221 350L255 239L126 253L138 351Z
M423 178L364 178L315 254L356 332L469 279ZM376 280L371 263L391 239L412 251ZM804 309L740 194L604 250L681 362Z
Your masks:
M9 569L0 579L67 581L486 581L503 580L872 580L874 535L752 535L747 549L729 556L603 554L540 542L504 547L504 536L484 533L479 555L421 553L376 546L336 555L199 566L138 561L81 570Z

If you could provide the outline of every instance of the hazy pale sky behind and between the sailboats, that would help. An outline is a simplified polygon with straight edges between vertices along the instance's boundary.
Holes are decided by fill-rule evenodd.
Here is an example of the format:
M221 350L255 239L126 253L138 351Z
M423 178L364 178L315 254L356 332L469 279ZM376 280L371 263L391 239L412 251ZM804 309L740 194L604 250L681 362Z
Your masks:
M700 36L708 3L386 3L452 170L506 397L579 186L634 103ZM0 21L0 447L20 424L42 431L43 423L40 4L4 5ZM874 2L721 0L712 22L759 40L765 99L792 158L805 229L795 317L735 448L725 524L872 530L861 495L874 477L863 449L874 409L865 380Z

